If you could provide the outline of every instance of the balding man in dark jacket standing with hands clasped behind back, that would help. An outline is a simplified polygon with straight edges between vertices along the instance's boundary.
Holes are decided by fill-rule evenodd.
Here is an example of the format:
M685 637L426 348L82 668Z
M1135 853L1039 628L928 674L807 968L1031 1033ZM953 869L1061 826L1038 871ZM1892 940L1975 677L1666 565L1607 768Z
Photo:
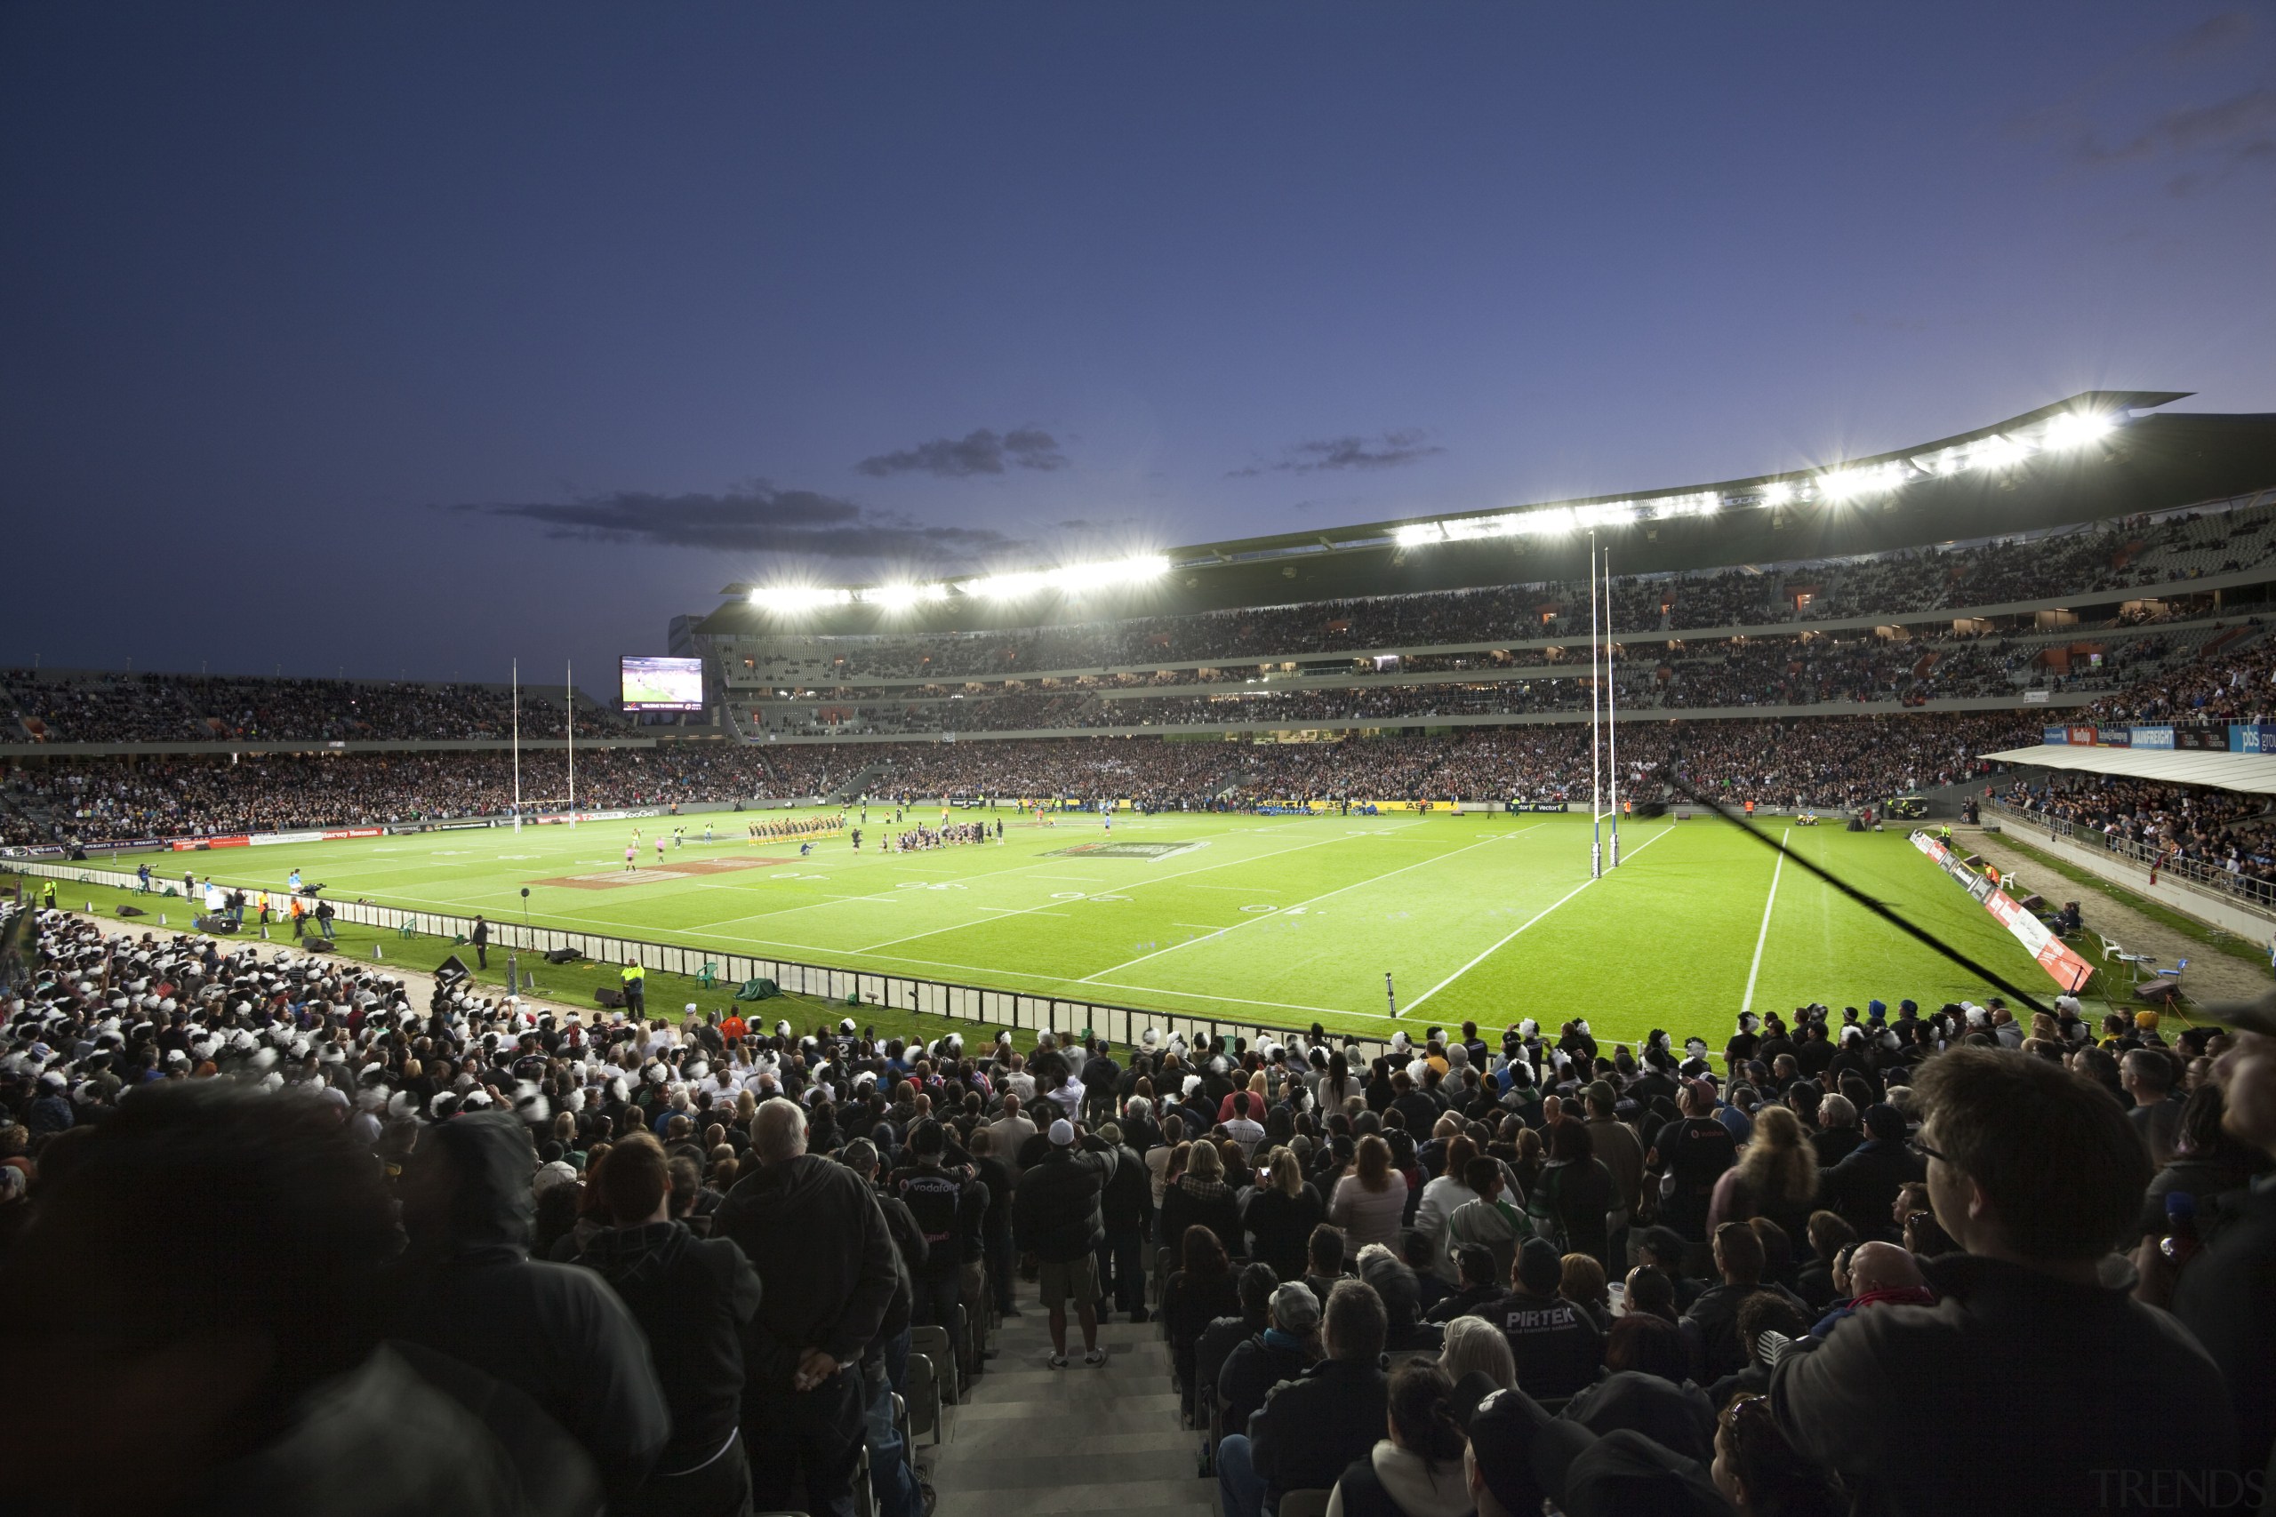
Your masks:
M719 1203L712 1235L733 1240L765 1285L742 1340L753 1503L853 1517L860 1360L899 1283L885 1212L851 1169L806 1153L792 1101L758 1105L751 1155L758 1169Z

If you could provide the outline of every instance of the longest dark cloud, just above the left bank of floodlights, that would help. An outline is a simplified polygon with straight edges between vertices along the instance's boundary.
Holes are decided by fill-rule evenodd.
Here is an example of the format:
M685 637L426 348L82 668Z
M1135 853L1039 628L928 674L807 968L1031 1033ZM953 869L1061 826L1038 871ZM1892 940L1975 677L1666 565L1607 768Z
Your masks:
M583 500L460 505L453 509L535 521L546 528L546 537L731 553L801 553L826 559L972 557L1017 546L988 528L935 528L813 489L776 489L765 480L717 496L612 491Z

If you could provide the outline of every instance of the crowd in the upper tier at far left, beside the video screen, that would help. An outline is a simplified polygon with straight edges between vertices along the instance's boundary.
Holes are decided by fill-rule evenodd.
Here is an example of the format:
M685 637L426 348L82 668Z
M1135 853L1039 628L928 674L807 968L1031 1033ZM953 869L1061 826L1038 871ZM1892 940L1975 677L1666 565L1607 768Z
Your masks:
M473 741L514 732L514 698L496 685L264 680L241 675L0 669L0 744L159 741ZM615 712L578 707L578 732L615 730ZM521 691L521 735L562 737L562 705Z

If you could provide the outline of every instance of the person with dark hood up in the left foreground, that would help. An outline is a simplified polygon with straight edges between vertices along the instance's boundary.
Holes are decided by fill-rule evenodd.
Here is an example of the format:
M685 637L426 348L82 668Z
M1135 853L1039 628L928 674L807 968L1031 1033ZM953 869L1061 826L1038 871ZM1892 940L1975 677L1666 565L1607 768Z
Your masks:
M649 1344L601 1276L528 1255L537 1151L512 1112L462 1112L403 1169L396 1335L512 1385L594 1460L610 1503L671 1435Z

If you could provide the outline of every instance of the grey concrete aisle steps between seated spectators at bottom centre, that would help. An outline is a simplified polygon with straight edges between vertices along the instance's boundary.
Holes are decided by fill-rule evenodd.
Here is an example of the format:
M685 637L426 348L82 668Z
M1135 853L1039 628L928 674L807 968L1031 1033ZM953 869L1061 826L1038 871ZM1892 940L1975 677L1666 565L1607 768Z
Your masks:
M1199 1433L1179 1428L1170 1349L1158 1324L1099 1324L1106 1365L1083 1367L1081 1328L1067 1321L1065 1369L1052 1369L1052 1331L1022 1283L1020 1317L965 1403L949 1408L949 1440L917 1440L940 1492L933 1517L1215 1517L1215 1478L1199 1478Z

